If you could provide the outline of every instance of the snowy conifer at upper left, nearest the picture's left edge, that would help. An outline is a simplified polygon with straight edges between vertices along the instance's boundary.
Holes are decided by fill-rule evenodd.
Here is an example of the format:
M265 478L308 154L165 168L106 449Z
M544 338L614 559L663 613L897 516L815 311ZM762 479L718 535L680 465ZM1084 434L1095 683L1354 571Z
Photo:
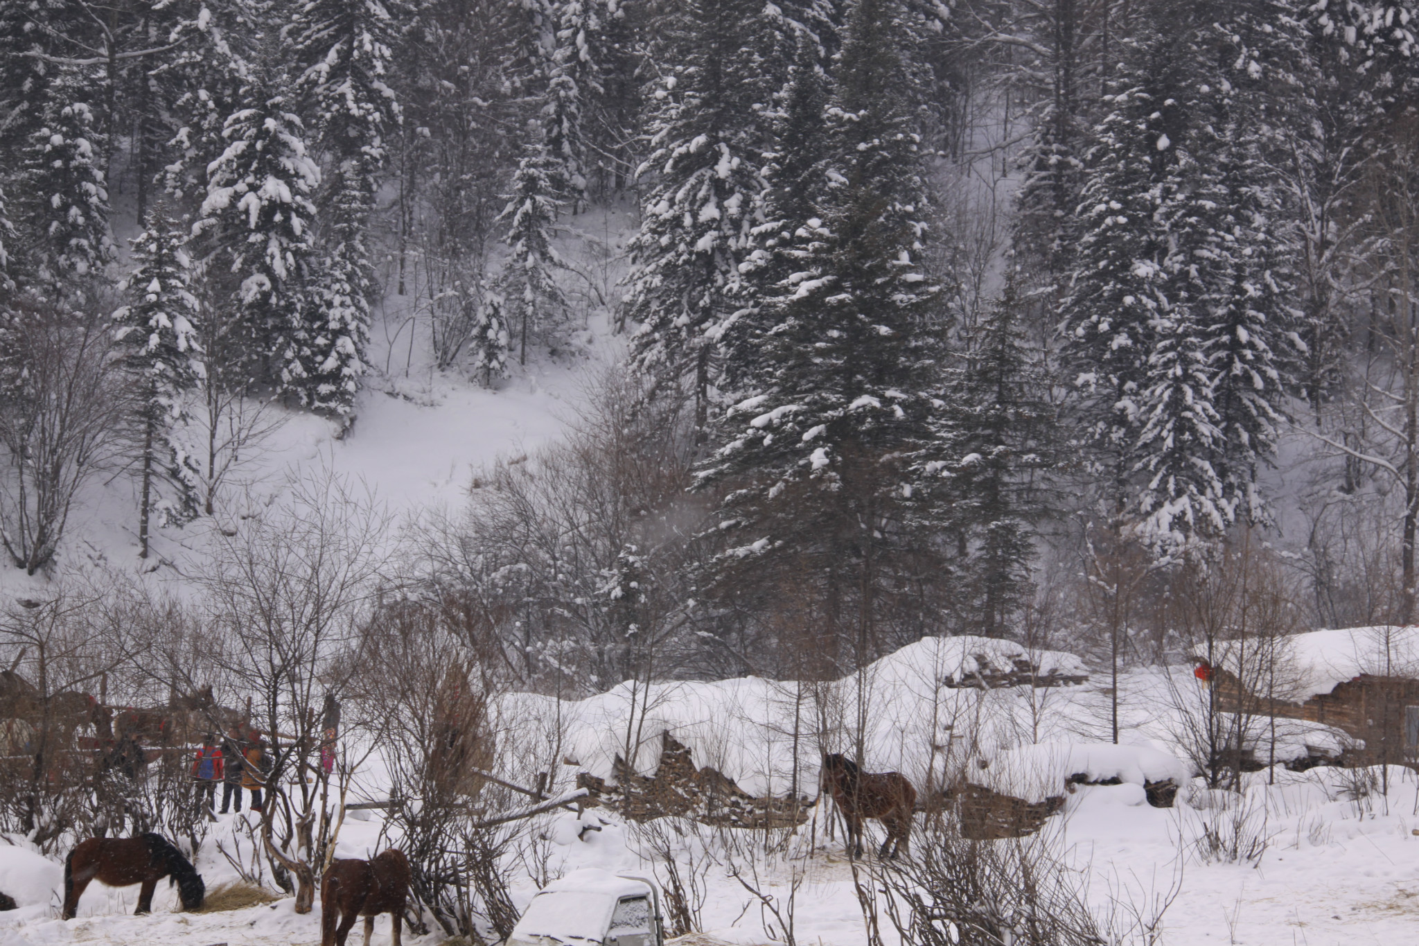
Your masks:
M23 153L16 193L17 282L44 292L82 291L114 260L108 155L92 105L96 85L77 67L61 67L45 92L40 126Z

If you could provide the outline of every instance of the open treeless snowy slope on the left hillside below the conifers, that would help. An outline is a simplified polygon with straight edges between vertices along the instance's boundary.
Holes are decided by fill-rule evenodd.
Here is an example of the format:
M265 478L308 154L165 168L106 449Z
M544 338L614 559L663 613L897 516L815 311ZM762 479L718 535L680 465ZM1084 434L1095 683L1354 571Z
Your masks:
M216 519L155 528L153 556L143 562L135 482L125 475L91 481L77 498L50 573L3 567L0 594L45 597L57 583L96 572L142 574L180 591L201 572L213 529L280 509L291 477L341 477L396 516L455 511L478 468L536 450L575 420L586 386L620 357L622 342L597 330L585 350L529 363L497 390L427 367L370 377L358 421L341 438L328 420L271 407L278 425L233 474Z

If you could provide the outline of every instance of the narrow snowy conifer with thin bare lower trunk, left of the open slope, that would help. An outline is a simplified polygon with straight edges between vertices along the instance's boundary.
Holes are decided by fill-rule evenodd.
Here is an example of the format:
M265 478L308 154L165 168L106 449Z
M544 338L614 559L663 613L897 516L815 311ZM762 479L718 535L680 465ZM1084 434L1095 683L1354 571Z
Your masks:
M138 421L138 556L148 557L149 519L183 525L201 511L200 471L176 438L184 397L201 380L199 305L190 289L186 235L159 207L133 238L133 271L119 285L128 305L114 312L114 338L135 387Z

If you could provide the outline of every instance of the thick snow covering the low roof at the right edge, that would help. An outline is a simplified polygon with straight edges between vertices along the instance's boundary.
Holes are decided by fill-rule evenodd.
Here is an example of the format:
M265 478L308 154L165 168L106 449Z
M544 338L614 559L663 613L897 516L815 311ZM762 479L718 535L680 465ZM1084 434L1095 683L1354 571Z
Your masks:
M1239 662L1247 660L1249 650L1256 652L1256 647L1254 638L1223 642L1216 664L1247 679L1247 672L1239 672ZM1205 655L1200 648L1195 652ZM1419 679L1419 627L1376 624L1310 631L1283 638L1277 651L1277 685L1294 702L1328 694L1361 675Z

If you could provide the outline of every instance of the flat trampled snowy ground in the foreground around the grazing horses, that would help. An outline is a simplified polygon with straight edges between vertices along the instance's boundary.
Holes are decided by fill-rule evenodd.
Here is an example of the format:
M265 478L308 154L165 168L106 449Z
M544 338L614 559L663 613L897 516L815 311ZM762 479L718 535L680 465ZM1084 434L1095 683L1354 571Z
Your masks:
M1151 808L1132 786L1083 789L1070 804L1060 830L1076 862L1088 871L1095 908L1110 909L1110 898L1128 891L1142 905L1162 895L1181 871L1181 891L1164 918L1162 942L1175 946L1244 943L1308 946L1415 942L1419 935L1419 828L1412 777L1389 798L1389 813L1361 811L1347 800L1330 801L1324 776L1296 776L1271 790L1273 801L1293 806L1273 813L1267 824L1271 847L1257 867L1202 864L1179 857L1179 833L1188 837L1203 813ZM1288 801L1281 801L1283 796ZM575 820L575 816L561 816ZM627 847L626 831L613 821L587 841L573 830L549 834L562 844L555 857L565 869L607 867L650 872ZM572 825L569 825L572 827ZM346 825L342 855L362 855L375 842L377 823ZM199 861L209 882L224 877L210 850ZM785 868L786 869L786 868ZM230 868L228 868L230 871ZM856 946L866 942L847 864L836 845L820 848L810 861L809 882L796 903L800 943ZM0 886L21 899L20 911L0 915L0 942L30 943L316 943L319 908L308 916L292 912L292 901L228 913L175 912L176 898L160 888L150 916L135 918L136 888L109 891L94 886L84 895L79 918L58 913L61 868L24 848L0 850ZM785 894L782 888L779 894ZM48 896L44 896L48 894ZM519 906L532 894L518 888ZM35 901L35 898L40 898ZM707 933L732 943L763 943L766 936L756 905L722 872L711 872L702 913ZM387 935L387 920L376 926L376 940ZM410 937L412 942L434 942ZM894 937L888 937L894 940Z

